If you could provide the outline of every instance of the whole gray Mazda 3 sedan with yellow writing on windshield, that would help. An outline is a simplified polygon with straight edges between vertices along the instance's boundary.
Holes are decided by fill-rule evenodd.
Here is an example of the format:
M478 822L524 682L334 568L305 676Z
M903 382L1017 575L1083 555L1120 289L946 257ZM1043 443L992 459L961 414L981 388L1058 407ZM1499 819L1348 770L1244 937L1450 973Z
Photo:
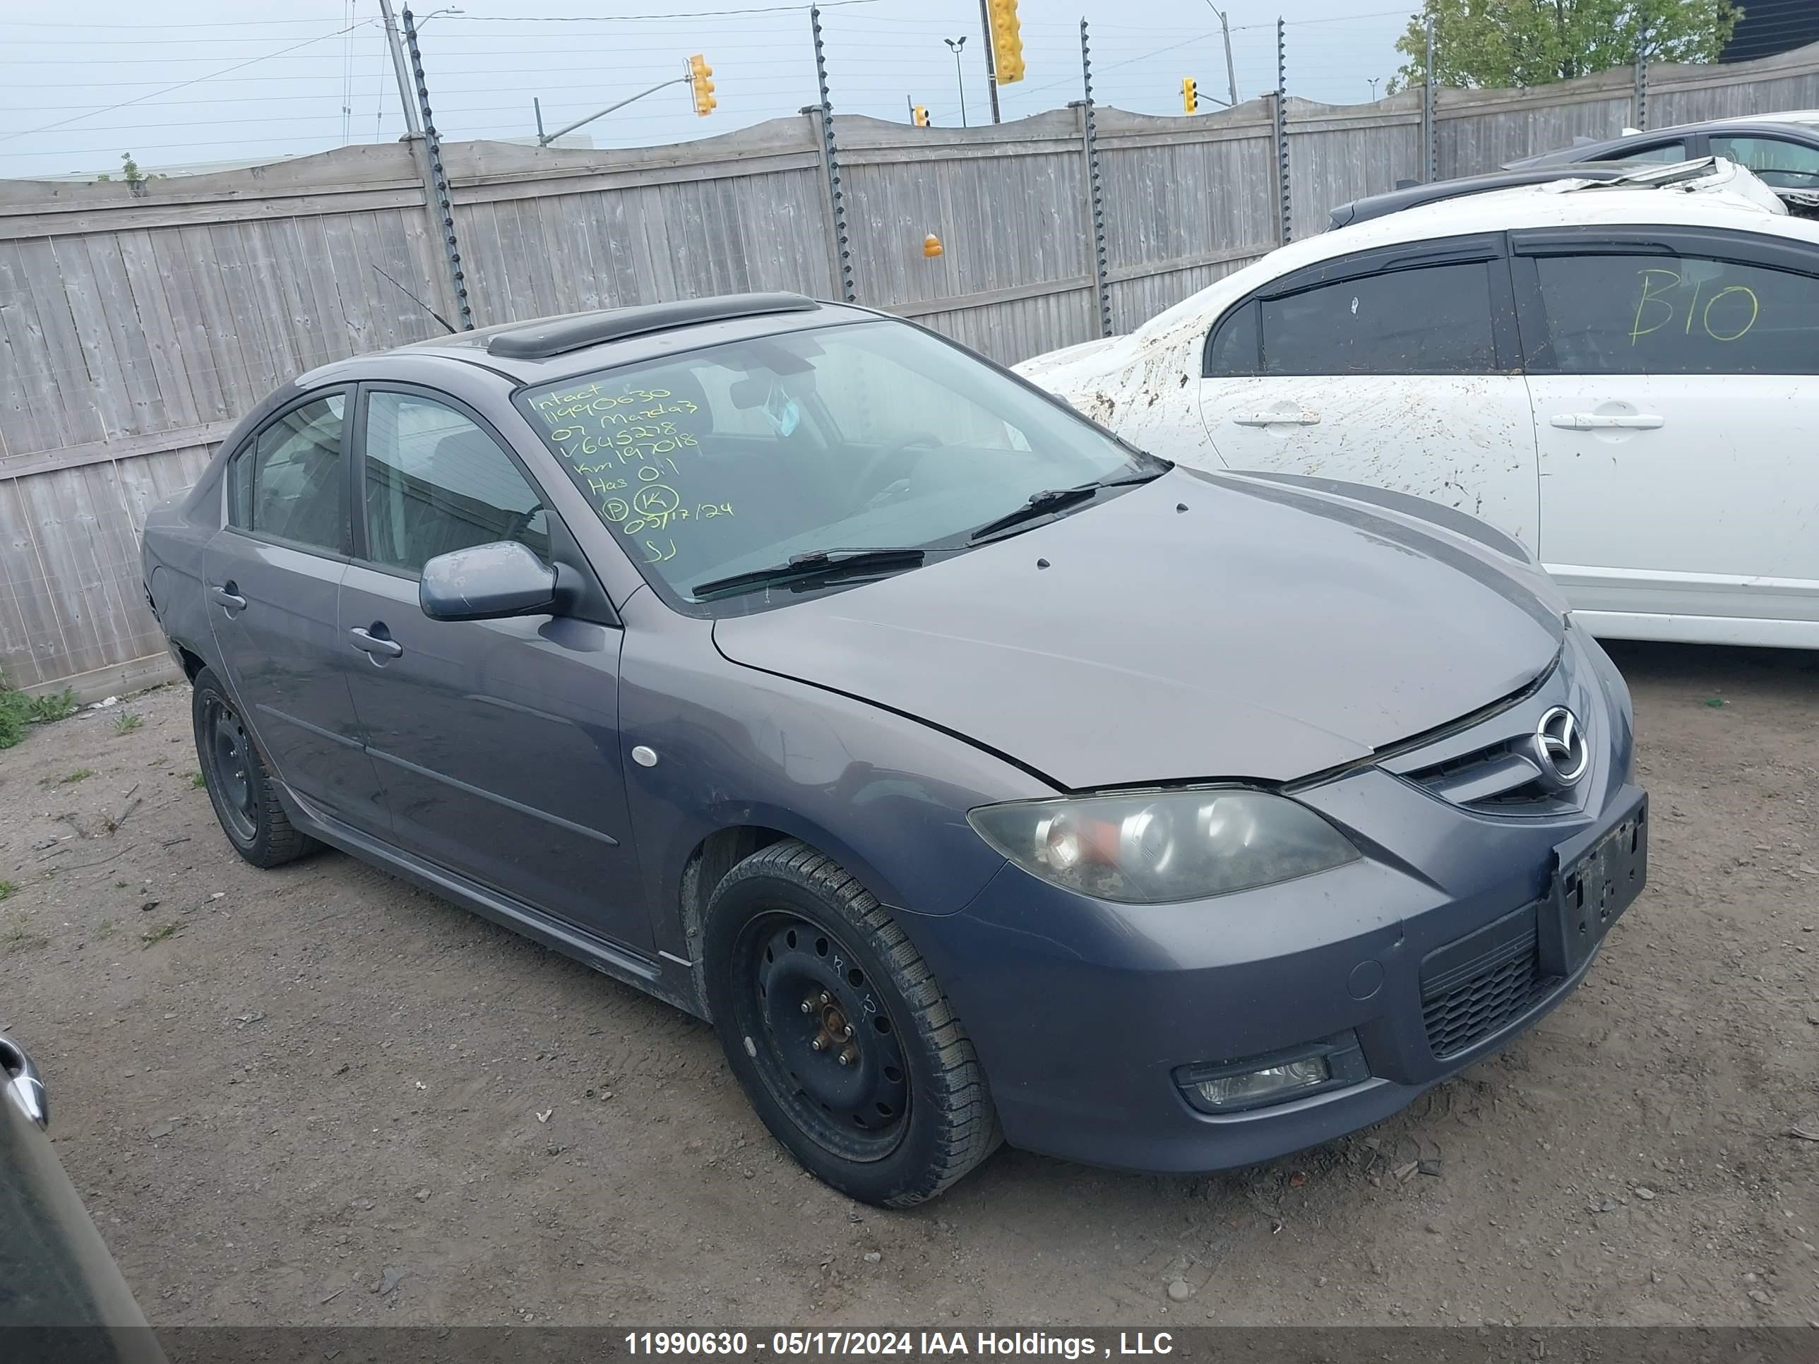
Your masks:
M709 1018L855 1199L1204 1171L1506 1044L1643 888L1523 546L744 295L342 360L160 507L209 798Z

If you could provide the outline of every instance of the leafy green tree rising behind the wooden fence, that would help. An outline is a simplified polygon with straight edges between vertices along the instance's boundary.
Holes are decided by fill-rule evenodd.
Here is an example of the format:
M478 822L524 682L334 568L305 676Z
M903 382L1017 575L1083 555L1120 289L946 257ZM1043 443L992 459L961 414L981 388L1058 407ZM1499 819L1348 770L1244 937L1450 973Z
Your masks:
M1435 84L1504 89L1650 62L1715 62L1743 9L1730 0L1426 0L1395 49L1406 89L1426 80L1433 18Z

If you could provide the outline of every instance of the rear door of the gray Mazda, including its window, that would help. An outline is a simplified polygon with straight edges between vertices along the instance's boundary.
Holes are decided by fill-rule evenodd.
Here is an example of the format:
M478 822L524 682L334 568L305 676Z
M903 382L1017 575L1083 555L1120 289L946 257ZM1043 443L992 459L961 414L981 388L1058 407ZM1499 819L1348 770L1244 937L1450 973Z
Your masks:
M351 406L353 389L313 393L235 453L204 591L227 684L278 778L357 827L382 827L335 618Z

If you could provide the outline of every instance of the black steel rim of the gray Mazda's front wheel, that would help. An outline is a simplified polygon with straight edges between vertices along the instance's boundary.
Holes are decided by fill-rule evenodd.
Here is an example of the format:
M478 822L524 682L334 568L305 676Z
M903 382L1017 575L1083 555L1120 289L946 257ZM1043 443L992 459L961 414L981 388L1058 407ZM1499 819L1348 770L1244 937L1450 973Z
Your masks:
M746 926L735 971L746 1055L797 1128L848 1160L891 1155L910 1124L910 1068L897 1022L853 951L819 924L777 911Z

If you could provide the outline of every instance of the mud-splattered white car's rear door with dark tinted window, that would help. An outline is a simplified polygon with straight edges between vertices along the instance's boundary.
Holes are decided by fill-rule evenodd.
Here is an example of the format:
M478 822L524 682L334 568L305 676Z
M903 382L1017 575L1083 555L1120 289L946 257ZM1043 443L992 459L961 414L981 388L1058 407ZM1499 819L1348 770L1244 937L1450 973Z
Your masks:
M1275 280L1213 327L1199 400L1231 469L1412 493L1535 544L1535 436L1501 236Z

